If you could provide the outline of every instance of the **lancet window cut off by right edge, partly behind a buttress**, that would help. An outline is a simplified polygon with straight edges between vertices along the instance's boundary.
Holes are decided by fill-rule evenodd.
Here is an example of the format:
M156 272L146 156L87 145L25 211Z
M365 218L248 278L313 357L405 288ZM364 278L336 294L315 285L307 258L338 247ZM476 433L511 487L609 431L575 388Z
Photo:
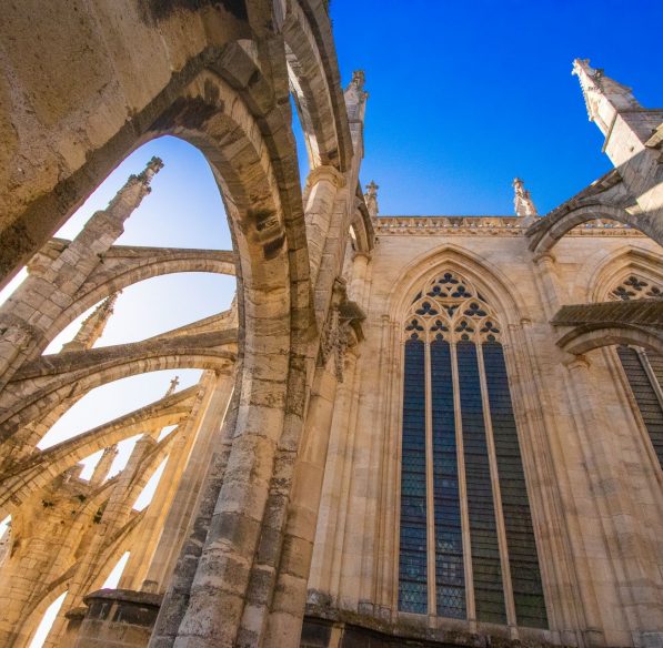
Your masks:
M610 293L613 300L663 300L663 286L630 274ZM617 346L617 355L629 381L642 422L663 468L663 356L637 346Z

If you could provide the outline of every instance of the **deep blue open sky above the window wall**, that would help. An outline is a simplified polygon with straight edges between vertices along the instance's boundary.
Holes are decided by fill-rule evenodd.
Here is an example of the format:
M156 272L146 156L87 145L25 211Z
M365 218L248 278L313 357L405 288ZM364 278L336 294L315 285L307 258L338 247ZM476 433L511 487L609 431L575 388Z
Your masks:
M611 169L574 58L663 105L661 0L331 0L343 84L370 93L361 179L386 214L541 213Z

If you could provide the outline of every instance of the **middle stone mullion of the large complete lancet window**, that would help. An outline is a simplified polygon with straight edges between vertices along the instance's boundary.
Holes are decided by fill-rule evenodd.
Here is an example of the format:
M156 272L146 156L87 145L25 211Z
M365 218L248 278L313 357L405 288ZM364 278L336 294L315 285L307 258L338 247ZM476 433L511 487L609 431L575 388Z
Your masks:
M455 448L459 476L459 498L463 530L463 566L465 573L465 607L470 631L476 632L476 608L474 605L474 577L472 573L472 545L470 538L470 513L468 509L468 487L465 483L465 455L463 449L463 421L461 417L461 392L455 343L450 344L451 377L453 382L453 411L455 419Z

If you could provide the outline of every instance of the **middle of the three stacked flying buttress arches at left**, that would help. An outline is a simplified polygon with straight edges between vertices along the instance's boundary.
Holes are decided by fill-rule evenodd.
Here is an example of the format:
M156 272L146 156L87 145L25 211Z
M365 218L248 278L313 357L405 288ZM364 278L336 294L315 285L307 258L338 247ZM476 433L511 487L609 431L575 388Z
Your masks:
M232 332L230 332L232 334ZM225 344L232 347L232 336L224 336ZM21 426L43 417L51 408L64 398L78 398L106 383L118 381L137 374L150 373L172 368L203 368L217 372L228 372L234 365L233 351L219 348L223 344L223 336L218 334L201 334L191 338L175 337L159 341L145 347L137 343L137 353L118 353L104 362L94 362L94 354L88 366L78 371L64 371L61 376L54 376L46 385L28 386L16 405L4 413L2 437L9 438ZM211 340L218 344L205 348L195 342ZM127 345L130 346L130 345ZM121 351L121 350L120 350ZM89 352L88 352L89 353ZM29 381L30 375L23 375Z

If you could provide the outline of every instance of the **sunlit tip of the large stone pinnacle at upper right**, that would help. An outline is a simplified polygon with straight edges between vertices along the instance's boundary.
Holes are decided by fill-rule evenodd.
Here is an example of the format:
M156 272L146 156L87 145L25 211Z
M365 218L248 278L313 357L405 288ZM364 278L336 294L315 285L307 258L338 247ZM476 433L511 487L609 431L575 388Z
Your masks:
M607 136L619 112L641 108L631 88L605 77L602 69L592 68L589 59L575 59L572 73L580 81L590 121L596 122L604 135Z

